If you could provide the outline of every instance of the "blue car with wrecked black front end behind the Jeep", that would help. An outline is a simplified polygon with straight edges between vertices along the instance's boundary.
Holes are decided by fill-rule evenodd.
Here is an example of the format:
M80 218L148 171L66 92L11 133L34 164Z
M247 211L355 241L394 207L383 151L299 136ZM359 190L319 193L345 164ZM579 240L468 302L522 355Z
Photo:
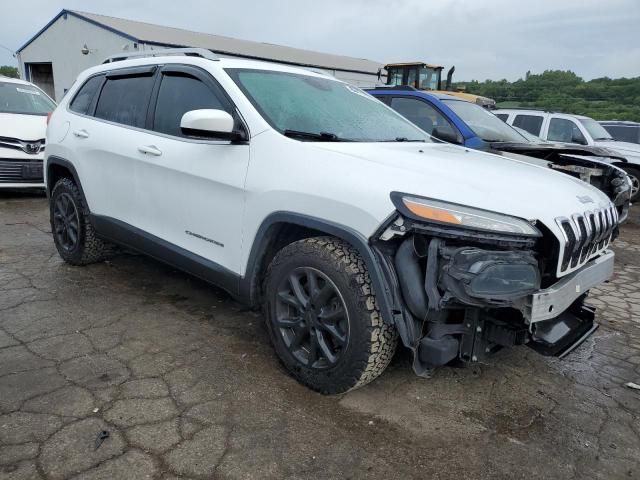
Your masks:
M627 160L611 150L527 138L487 109L444 93L425 92L407 86L376 88L367 92L432 137L547 166L591 183L611 198L622 213L621 218L626 216L630 183L626 173L611 163Z

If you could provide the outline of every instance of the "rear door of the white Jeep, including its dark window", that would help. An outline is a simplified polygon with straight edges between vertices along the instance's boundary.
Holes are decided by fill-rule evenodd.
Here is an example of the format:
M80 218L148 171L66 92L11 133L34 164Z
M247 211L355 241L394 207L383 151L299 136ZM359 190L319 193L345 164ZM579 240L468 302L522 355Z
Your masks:
M138 224L135 168L156 67L89 79L70 104L70 148L93 214ZM93 92L95 90L95 92Z

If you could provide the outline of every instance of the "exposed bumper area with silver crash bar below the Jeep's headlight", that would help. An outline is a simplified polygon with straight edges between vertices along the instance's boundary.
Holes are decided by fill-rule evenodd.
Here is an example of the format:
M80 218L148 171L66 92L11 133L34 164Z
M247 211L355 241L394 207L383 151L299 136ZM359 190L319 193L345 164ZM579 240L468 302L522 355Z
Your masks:
M428 375L456 358L481 361L502 347L526 344L564 356L596 329L586 292L613 274L614 253L540 289L530 250L449 247L407 238L395 257L411 323L399 328L414 351L414 370Z

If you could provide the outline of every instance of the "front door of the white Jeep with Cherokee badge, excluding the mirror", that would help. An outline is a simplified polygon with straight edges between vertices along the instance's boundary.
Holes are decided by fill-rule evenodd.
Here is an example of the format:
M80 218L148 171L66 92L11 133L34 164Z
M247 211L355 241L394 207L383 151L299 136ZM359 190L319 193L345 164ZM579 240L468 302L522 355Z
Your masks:
M198 109L225 110L236 118L238 128L244 128L231 100L208 72L188 65L163 67L149 110L150 131L136 145L139 225L238 272L249 145L185 135L180 120Z

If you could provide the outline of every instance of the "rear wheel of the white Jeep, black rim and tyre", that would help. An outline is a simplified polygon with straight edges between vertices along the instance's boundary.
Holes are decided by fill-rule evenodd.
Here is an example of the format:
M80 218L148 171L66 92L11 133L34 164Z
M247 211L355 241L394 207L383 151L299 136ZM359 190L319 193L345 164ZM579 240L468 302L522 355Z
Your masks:
M53 187L49 213L53 241L65 262L87 265L112 253L112 245L96 236L89 209L71 179L61 178Z

